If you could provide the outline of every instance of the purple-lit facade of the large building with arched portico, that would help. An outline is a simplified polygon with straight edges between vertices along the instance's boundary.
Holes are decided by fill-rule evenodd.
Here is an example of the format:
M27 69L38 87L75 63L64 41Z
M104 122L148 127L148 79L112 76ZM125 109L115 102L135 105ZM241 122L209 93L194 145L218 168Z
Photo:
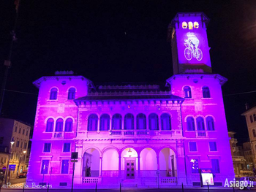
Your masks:
M178 30L173 35L172 44ZM202 50L208 47L203 38ZM227 80L203 67L191 70L176 71L167 80L170 91L159 85L95 87L72 74L35 81L39 96L27 183L70 188L74 151L75 188L197 185L199 169L212 169L217 185L233 180L221 89Z

